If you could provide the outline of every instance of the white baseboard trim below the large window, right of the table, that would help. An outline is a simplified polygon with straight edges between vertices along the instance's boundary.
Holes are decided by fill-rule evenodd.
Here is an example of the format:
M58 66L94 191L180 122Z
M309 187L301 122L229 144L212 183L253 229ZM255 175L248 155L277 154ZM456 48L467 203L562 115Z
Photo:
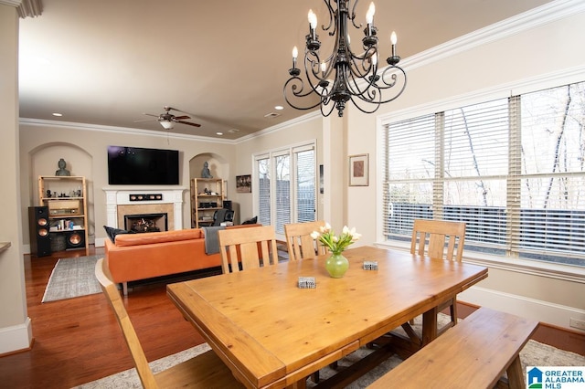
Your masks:
M559 328L585 333L569 326L570 318L585 321L585 310L481 287L466 289L457 296L457 299L463 303L502 310Z

